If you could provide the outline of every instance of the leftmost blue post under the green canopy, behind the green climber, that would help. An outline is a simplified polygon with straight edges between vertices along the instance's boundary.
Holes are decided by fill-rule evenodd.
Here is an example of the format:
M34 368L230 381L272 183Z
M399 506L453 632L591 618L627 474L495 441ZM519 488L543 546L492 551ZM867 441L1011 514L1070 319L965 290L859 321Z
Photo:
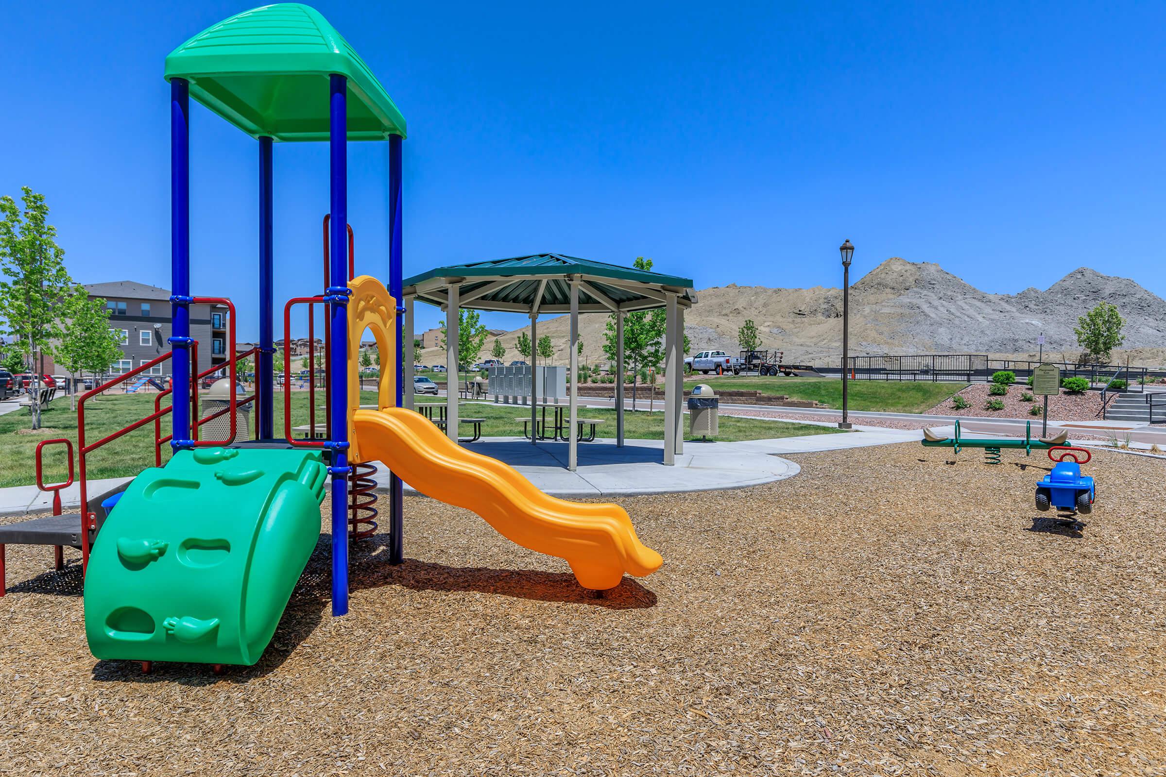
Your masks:
M174 375L170 445L188 447L190 433L190 91L170 82L170 370Z

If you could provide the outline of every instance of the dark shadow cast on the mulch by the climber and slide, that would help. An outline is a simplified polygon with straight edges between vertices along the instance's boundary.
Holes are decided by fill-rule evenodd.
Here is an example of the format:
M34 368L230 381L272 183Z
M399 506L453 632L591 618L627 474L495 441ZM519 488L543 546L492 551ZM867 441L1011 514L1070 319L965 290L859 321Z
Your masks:
M93 666L93 679L99 683L167 681L203 686L220 681L250 683L275 671L328 616L331 608L331 535L321 535L316 550L292 592L292 599L271 644L254 666L227 666L225 673L215 674L206 664L157 663L147 674L141 671L140 662L99 661ZM50 572L40 578L54 574L63 573ZM79 594L79 565L76 574L70 577L76 577L76 593ZM34 578L33 581L40 578ZM33 581L21 585L27 586ZM378 534L351 548L349 589L368 591L386 586L401 586L412 591L489 593L605 609L644 609L656 605L655 593L627 575L614 588L597 593L580 586L575 575L569 572L457 567L410 558L393 566L388 564L388 536Z

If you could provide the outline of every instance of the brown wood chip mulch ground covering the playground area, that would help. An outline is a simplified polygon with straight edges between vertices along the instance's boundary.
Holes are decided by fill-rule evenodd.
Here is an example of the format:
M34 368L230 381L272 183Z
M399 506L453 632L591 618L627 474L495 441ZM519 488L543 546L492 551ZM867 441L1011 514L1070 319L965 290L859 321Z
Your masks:
M602 599L407 499L408 561L328 537L261 662L96 662L76 564L8 549L0 774L1163 775L1166 465L1098 452L1081 529L1049 461L901 444L747 490L620 502L665 566ZM326 527L326 521L324 523Z

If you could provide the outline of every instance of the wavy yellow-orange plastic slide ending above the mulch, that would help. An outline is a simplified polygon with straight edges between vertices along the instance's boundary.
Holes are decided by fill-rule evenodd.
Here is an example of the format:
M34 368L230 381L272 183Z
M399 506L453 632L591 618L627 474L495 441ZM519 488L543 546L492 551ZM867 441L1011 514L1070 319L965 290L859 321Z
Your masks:
M422 494L472 510L511 542L566 559L584 588L642 577L663 559L635 537L617 504L568 502L543 494L513 467L468 451L405 408L357 410L360 458L380 460Z

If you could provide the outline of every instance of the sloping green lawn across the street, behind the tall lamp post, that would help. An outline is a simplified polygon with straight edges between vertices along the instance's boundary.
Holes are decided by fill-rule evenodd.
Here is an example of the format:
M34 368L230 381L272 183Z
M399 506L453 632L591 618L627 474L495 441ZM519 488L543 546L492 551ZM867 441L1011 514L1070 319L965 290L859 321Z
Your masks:
M697 375L686 382L708 383L714 390L744 389L761 394L785 394L792 400L815 400L831 408L842 407L842 381L830 377L712 377ZM850 381L851 410L884 412L923 412L947 400L967 383L932 383L923 381Z

